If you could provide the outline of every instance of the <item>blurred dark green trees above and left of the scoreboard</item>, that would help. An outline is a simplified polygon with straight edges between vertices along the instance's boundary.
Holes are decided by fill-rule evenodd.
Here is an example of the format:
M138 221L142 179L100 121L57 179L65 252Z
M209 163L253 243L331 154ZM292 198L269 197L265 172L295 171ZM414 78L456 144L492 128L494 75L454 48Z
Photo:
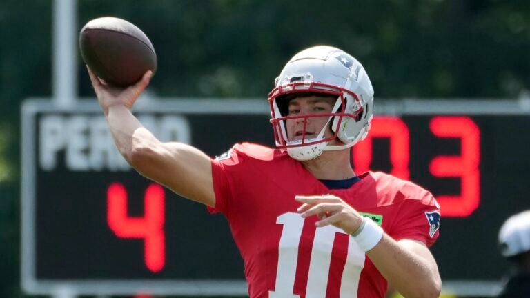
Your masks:
M266 100L297 51L329 44L363 63L376 100L517 99L530 89L530 6L523 0L77 1L135 23L153 42L157 97ZM0 3L0 297L19 289L20 103L52 95L51 0ZM78 61L79 96L92 97Z

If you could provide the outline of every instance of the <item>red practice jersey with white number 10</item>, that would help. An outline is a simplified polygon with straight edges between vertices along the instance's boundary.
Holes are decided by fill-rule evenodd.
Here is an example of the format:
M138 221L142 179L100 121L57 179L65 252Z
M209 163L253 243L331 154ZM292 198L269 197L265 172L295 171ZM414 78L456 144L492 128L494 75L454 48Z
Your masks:
M250 297L384 297L386 280L353 237L302 218L295 195L340 197L393 239L431 246L438 203L420 186L381 172L330 190L285 150L237 144L212 162L215 208L228 219L245 264Z

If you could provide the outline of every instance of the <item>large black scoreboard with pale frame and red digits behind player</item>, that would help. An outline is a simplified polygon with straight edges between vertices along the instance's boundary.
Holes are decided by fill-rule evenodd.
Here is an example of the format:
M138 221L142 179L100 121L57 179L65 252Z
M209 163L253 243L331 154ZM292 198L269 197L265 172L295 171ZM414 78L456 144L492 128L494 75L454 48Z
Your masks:
M431 250L444 281L500 279L498 229L530 208L530 112L503 102L377 101L369 137L352 150L355 172L390 172L437 197L442 221ZM134 112L162 141L211 157L238 141L274 144L265 100L153 101ZM246 295L224 217L131 169L95 100L71 108L26 101L22 138L26 292Z

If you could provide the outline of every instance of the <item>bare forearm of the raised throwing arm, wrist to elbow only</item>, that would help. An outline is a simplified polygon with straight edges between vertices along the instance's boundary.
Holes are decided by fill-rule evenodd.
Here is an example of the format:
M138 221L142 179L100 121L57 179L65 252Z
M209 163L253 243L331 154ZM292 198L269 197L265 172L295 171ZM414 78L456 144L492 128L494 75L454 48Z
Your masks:
M125 106L110 106L106 119L119 152L129 162L135 147L157 141Z

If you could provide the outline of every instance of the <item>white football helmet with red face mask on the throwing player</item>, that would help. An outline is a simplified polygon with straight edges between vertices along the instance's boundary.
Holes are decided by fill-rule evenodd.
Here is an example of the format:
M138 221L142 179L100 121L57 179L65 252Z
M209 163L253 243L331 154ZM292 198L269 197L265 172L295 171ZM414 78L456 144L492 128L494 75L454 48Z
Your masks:
M289 116L286 95L298 92L336 96L337 101L328 114ZM315 46L295 54L276 78L268 102L276 146L286 148L288 155L299 161L315 159L326 150L350 148L366 137L373 117L373 88L368 74L357 59L331 46ZM288 140L286 119L306 121L323 116L329 119L317 137L306 139L304 126L302 139ZM326 138L328 125L334 135ZM328 144L337 138L344 145Z

